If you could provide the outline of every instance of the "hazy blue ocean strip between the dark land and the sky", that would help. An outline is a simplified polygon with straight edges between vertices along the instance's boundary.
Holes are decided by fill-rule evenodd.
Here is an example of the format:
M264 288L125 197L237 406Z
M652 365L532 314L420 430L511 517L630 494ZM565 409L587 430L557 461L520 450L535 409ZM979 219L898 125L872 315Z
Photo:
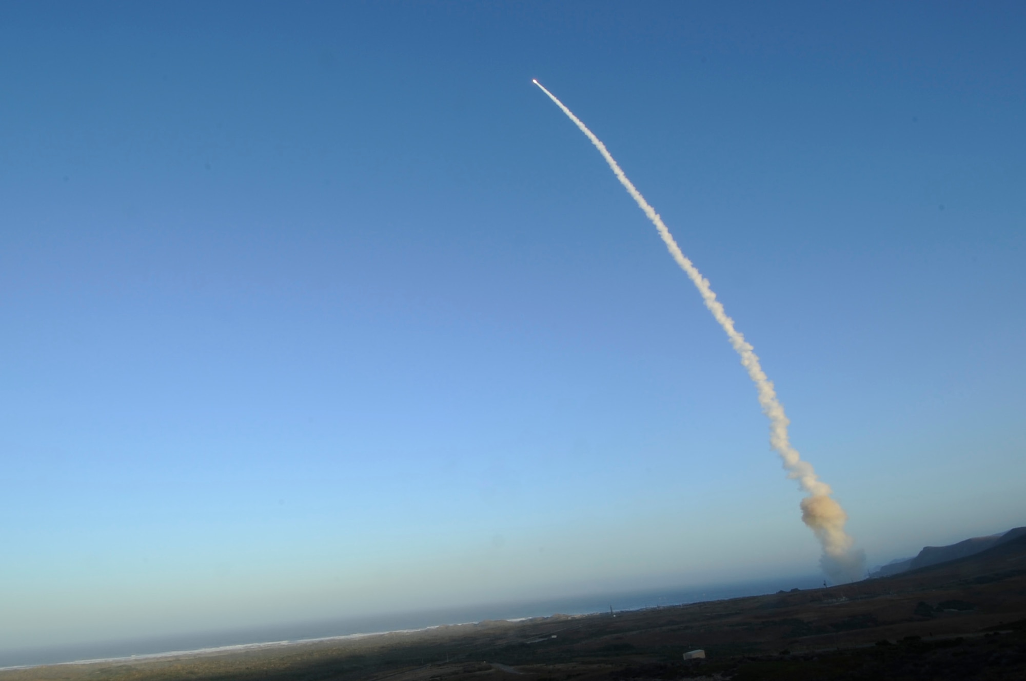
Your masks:
M782 589L815 589L822 585L823 577L805 575L710 587L595 594L592 596L576 596L519 603L495 603L462 608L421 610L406 613L263 627L259 629L181 634L159 638L139 638L74 646L0 649L0 668L54 665L89 659L111 659L131 657L133 655L155 655L167 652L197 651L227 646L256 645L261 643L299 642L353 634L424 629L437 625L458 625L485 619L542 617L556 613L587 614L591 612L608 612L610 607L614 610L638 610L656 606L680 605L683 603L715 601L741 596L772 594Z

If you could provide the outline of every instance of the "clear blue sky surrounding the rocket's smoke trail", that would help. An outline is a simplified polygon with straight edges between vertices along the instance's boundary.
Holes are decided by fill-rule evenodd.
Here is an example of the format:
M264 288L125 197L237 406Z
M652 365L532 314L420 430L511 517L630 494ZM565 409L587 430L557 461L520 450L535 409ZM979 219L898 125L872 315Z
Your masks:
M0 4L0 640L1026 524L1022 3Z

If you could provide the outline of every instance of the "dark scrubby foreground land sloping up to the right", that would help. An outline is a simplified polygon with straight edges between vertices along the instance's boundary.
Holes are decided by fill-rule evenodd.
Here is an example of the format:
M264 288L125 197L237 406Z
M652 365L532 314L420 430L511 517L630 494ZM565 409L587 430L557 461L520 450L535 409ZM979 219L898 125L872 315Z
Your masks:
M702 648L706 659L683 660ZM0 681L1026 679L1026 536L855 585L586 616L491 622Z

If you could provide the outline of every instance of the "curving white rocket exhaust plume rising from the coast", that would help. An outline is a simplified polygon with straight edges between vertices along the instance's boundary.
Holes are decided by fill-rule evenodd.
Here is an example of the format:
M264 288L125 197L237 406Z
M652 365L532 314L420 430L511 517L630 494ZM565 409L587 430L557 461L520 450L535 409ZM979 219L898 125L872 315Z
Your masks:
M613 169L613 173L617 176L617 179L620 181L620 184L624 186L624 189L631 195L631 198L638 204L638 207L652 221L652 224L656 226L656 230L659 231L659 236L663 239L663 243L666 244L670 255L677 262L680 269L687 274L692 283L699 289L706 308L709 309L709 312L712 313L712 316L726 332L726 337L731 341L735 352L741 357L742 366L745 367L745 370L748 371L748 376L755 384L755 391L758 394L762 412L770 418L770 445L774 451L780 454L784 469L788 473L787 477L797 480L801 488L808 492L808 495L801 499L801 520L813 530L816 538L823 546L823 557L820 559L820 565L823 567L824 572L835 582L854 582L861 578L865 573L863 570L865 558L862 551L852 550L854 540L844 531L847 514L830 496L830 485L820 480L819 476L813 470L812 465L802 460L798 451L791 446L791 442L787 436L787 427L791 422L784 414L784 405L777 399L777 391L774 390L773 383L766 376L765 371L762 370L759 358L755 355L752 345L745 341L745 336L741 334L741 331L735 328L734 320L726 316L723 305L716 299L716 294L709 286L709 280L703 277L698 268L681 252L680 247L677 246L677 242L673 239L673 235L670 234L670 230L663 224L663 218L659 216L655 208L648 205L648 202L644 200L641 193L627 178L627 175L620 168L620 164L609 154L602 141L596 137L581 122L581 119L574 115L574 112L567 109L552 92L545 89L538 80L532 80L531 82L549 95L549 98L585 133L591 141L591 144L595 145L602 158L609 164L609 168Z

